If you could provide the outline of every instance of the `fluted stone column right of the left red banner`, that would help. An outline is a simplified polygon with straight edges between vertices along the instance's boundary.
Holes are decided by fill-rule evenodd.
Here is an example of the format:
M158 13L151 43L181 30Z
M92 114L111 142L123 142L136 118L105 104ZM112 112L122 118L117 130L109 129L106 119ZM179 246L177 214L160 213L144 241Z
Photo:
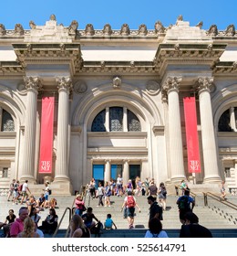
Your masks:
M58 113L57 113L57 162L55 182L68 181L68 115L69 92L72 88L70 78L57 78Z

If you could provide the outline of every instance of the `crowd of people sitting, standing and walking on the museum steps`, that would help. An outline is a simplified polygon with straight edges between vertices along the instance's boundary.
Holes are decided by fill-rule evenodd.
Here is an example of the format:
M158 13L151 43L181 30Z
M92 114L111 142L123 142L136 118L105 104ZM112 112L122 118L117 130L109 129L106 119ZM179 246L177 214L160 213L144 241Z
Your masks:
M15 191L17 187L17 191ZM19 189L21 187L21 189ZM221 184L221 197L224 199L224 182ZM10 238L42 238L44 234L53 234L58 226L58 216L56 212L57 200L50 202L49 184L45 184L44 193L36 199L30 192L26 182L20 186L17 180L10 184L7 200L13 204L25 204L19 208L18 218L14 210L9 209L5 222L0 222L0 228L4 229L4 236ZM180 218L180 238L185 237L212 237L211 231L199 224L199 218L193 213L195 200L190 195L190 188L182 180L180 182L181 196L177 199ZM143 191L144 190L144 191ZM28 194L28 193L29 194ZM147 196L149 204L148 227L145 238L168 238L168 234L162 229L162 220L166 207L167 190L163 182L156 185L153 178L146 178L141 182L137 177L134 182L128 181L123 185L122 177L118 175L117 181L106 182L105 186L101 182L96 185L94 178L88 185L88 195L92 198L98 198L97 207L110 207L110 197L124 197L121 211L123 217L128 219L129 229L134 228L135 209L140 212L136 197ZM46 219L42 220L40 211L48 208L49 212ZM40 221L42 224L39 225ZM70 221L70 238L89 238L92 233L100 232L102 229L118 229L110 213L107 214L103 224L96 217L93 208L86 208L83 196L77 194L75 197L75 214Z

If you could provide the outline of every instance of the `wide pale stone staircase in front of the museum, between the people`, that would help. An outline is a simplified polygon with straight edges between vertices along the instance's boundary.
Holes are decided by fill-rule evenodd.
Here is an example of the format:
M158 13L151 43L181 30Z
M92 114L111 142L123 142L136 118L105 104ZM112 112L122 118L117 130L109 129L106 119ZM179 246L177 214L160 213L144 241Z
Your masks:
M36 196L37 197L37 196ZM112 219L116 223L118 229L103 230L99 235L101 238L142 238L148 229L149 220L149 204L146 196L136 197L141 212L136 209L135 229L129 229L128 220L123 218L121 206L124 197L112 196L111 207L98 207L98 198L92 199L88 195L85 197L86 206L92 207L96 217L104 223L107 214L112 215ZM163 213L162 225L167 231L170 238L178 238L180 234L180 219L178 207L176 205L178 196L169 195L167 197L167 210ZM231 202L233 206L237 205L237 197L227 197L227 202ZM60 226L54 237L67 237L69 219L72 215L74 196L57 197L57 215L59 217ZM219 199L202 194L195 195L196 206L194 213L199 217L200 224L208 229L211 229L213 237L216 238L237 238L237 208L232 205L227 205L227 202L222 202ZM18 215L18 209L21 205L12 205L12 202L7 202L6 197L0 197L0 221L5 220L8 209L13 208L15 215ZM40 211L41 219L46 219L48 209ZM39 224L40 225L40 224ZM2 229L1 229L2 232ZM0 233L2 234L2 233ZM94 236L94 235L93 235ZM46 237L49 237L46 235Z

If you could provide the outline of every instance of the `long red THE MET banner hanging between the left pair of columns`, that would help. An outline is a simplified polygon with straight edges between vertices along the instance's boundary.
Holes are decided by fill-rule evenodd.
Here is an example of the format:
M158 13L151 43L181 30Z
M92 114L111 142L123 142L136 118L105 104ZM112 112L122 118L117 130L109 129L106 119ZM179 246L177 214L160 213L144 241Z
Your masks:
M39 173L52 172L55 98L42 99Z

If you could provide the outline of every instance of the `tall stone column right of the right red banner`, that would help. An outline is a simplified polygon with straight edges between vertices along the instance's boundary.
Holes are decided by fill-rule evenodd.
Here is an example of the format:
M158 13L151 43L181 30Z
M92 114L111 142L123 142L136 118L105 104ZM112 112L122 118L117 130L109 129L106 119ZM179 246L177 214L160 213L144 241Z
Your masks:
M218 168L217 148L211 109L210 88L212 82L213 78L199 78L197 82L201 117L201 142L204 162L204 183L219 183L221 181Z

